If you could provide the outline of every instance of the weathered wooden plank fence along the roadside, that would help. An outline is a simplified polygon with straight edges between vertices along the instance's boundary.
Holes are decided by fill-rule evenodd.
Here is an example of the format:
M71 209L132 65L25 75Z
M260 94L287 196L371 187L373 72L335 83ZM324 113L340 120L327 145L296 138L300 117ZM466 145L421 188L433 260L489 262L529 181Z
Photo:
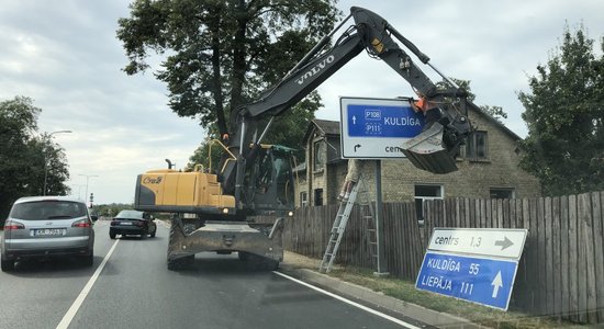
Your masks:
M430 201L420 225L413 203L384 204L384 250L392 275L415 281L435 227L527 228L511 309L577 322L604 322L604 192L543 198ZM337 205L287 219L286 249L321 259ZM353 211L336 262L374 269L367 223ZM317 263L318 266L318 263Z

